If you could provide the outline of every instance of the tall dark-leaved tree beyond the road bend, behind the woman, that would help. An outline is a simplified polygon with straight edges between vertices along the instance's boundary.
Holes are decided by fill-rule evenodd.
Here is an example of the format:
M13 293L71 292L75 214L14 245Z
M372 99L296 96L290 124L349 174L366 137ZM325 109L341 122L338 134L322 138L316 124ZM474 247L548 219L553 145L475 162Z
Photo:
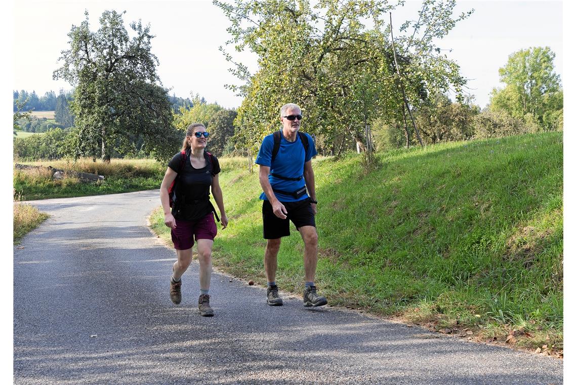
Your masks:
M54 71L54 79L76 87L74 158L100 156L110 162L114 150L133 152L138 139L158 160L174 152L172 111L167 90L157 84L158 59L151 52L154 36L139 20L130 24L136 34L130 38L124 13L104 11L100 28L92 32L85 12L85 20L70 30L70 48L62 51L62 66Z

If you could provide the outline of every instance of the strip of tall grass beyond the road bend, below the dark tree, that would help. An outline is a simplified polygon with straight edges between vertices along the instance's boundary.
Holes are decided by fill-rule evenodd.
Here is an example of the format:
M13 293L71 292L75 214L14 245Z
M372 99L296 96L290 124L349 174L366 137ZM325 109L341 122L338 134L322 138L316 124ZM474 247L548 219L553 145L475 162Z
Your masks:
M35 166L53 166L104 175L103 181L83 183L76 178L51 179L46 169L14 170L15 193L23 200L63 198L100 194L114 194L160 188L166 167L150 159L113 159L111 163L92 162L89 159L72 163L66 160L53 162L26 162Z

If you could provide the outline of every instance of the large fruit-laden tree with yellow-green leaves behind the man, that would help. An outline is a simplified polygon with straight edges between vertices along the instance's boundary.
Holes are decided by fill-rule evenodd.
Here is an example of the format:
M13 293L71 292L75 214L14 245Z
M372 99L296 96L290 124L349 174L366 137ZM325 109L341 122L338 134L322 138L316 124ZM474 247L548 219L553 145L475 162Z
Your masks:
M427 0L418 21L402 25L402 31L414 31L395 40L400 73L387 30L387 12L395 5L387 1L213 2L231 21L228 43L258 56L259 69L250 74L224 53L245 82L229 86L245 96L235 120L242 127L235 134L239 147L256 150L278 125L280 106L294 102L306 117L303 129L316 134L319 152L339 154L343 145L363 145L367 122L402 116L396 113L404 104L401 80L410 106L451 85L460 93L465 83L456 63L432 44L467 16L452 18L454 1ZM368 21L371 29L363 24Z

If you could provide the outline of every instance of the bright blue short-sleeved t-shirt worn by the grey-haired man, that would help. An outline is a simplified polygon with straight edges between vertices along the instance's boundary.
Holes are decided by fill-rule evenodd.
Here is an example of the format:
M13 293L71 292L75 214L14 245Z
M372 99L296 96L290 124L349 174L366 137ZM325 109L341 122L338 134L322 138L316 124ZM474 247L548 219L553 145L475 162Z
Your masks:
M273 189L283 190L283 191L296 191L305 185L305 178L303 175L303 170L305 163L317 155L317 149L314 147L314 140L308 134L304 133L309 140L309 151L305 154L305 146L301 141L301 137L297 134L297 140L290 142L284 138L282 130L280 131L280 147L279 152L276 154L275 161L271 165L272 147L274 146L273 134L269 134L264 137L263 144L261 144L258 150L258 155L254 163L261 166L271 167L271 174L282 175L286 178L298 178L301 177L299 181L287 181L284 179L273 177L268 175L268 181L271 183ZM284 195L275 192L276 199L281 202L296 202L299 200L307 199L309 196L305 195L294 199L293 196ZM260 199L268 200L265 193L261 193Z

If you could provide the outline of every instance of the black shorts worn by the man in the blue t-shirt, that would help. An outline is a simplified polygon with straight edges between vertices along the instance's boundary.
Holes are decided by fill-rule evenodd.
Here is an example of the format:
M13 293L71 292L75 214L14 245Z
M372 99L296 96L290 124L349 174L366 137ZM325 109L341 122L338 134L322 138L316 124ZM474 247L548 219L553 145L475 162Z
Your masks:
M281 202L287 209L287 218L280 219L272 212L272 205L268 200L263 200L263 237L265 240L276 240L280 237L290 236L290 223L292 220L297 230L302 226L313 226L314 212L310 207L310 198L298 202Z

